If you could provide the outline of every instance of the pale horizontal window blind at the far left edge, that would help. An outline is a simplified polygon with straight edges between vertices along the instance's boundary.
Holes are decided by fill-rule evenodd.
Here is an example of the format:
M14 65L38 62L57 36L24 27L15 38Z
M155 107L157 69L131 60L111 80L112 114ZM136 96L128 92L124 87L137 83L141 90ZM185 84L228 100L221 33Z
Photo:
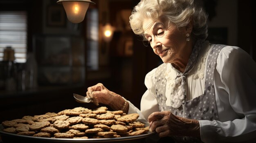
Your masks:
M25 63L27 56L27 12L0 11L0 61L4 49L14 49L15 61Z

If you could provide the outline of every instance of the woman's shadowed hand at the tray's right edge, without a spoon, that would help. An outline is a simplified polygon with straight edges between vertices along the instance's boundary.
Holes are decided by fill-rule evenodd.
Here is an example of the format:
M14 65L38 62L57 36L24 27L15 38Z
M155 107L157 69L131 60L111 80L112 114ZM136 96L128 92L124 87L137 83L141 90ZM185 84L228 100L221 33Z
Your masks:
M148 117L150 131L164 136L196 136L200 137L198 120L177 117L170 111L153 112Z

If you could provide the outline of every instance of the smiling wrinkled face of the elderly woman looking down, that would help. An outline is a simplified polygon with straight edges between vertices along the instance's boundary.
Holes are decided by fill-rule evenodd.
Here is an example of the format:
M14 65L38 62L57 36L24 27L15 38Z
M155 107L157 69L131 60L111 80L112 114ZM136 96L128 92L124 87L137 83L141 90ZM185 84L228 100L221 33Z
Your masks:
M144 35L154 53L159 55L164 63L179 64L189 51L186 49L186 30L185 28L177 29L174 24L168 24L167 20L162 21L164 20L144 20Z

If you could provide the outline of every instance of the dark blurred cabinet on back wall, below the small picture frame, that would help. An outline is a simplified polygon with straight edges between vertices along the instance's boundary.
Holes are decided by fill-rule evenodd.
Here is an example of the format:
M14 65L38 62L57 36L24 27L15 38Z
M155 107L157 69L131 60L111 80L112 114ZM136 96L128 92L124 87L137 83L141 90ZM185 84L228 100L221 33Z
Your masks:
M81 36L34 37L39 85L70 85L85 82L85 42Z

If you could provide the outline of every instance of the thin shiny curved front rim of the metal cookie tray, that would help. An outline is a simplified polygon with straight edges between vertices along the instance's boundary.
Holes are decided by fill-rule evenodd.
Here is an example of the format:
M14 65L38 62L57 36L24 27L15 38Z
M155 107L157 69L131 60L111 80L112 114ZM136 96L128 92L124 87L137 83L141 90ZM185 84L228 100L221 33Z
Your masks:
M36 137L36 136L25 136L20 134L13 134L3 131L4 127L2 124L0 124L0 136L3 138L3 136L8 137L16 137L20 139L27 139L27 140L40 140L40 141L49 141L49 142L68 142L68 143L99 143L99 142L111 142L111 141L128 141L128 140L135 140L135 139L141 139L146 138L149 136L153 136L156 134L156 132L150 132L148 131L147 134L141 134L136 136L124 136L124 137L118 137L118 138L103 138L103 139L63 139L63 138L47 138L47 137Z

